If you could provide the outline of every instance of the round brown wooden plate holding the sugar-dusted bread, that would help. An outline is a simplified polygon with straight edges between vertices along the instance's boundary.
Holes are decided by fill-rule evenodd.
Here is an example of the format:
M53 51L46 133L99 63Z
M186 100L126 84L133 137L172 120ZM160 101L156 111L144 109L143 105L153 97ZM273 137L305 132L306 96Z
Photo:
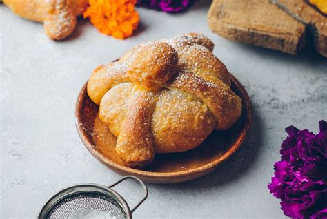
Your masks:
M252 122L250 98L232 76L232 90L242 98L242 115L227 131L214 131L188 152L155 154L155 160L143 170L126 167L119 160L115 145L117 138L99 119L99 106L93 103L83 85L75 105L75 124L83 144L95 158L121 175L133 175L149 183L180 183L199 178L213 171L244 143Z

